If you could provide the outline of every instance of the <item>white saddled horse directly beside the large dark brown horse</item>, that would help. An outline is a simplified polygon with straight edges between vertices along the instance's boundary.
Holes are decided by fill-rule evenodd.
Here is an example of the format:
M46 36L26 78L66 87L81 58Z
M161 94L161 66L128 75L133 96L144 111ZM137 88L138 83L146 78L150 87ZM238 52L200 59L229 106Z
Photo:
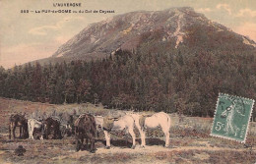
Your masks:
M130 134L133 139L133 145L131 148L135 148L135 134L134 134L134 126L135 120L131 115L124 115L118 119L114 118L103 118L102 116L95 116L96 118L96 127L101 127L104 132L105 140L106 140L106 148L110 148L110 131L125 131L126 134ZM103 126L104 119L108 119L112 121L112 127L110 129L105 129Z

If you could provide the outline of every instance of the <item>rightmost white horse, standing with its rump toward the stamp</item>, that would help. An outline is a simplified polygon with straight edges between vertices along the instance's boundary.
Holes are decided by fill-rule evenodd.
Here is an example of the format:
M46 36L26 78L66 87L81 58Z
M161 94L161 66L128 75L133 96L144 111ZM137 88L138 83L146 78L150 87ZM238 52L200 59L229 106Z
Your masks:
M128 114L128 113L127 113ZM139 130L141 135L141 146L145 147L146 145L146 130L161 128L165 136L165 147L169 146L169 129L171 126L171 120L168 114L164 112L156 113L150 117L145 118L144 126L140 125L140 119L143 117L137 113L129 113L128 115L132 116L135 120L135 126Z

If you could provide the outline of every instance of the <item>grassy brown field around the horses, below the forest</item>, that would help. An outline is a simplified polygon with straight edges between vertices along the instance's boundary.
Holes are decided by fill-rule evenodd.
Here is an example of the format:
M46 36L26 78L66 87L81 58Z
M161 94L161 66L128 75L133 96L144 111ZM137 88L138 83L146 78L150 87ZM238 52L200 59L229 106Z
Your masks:
M163 148L163 134L159 131L148 133L146 148L132 150L125 144L122 136L112 137L113 147L110 150L103 148L104 141L101 133L96 141L96 154L88 151L75 152L73 137L62 140L9 140L6 136L8 118L11 113L26 112L31 114L34 110L78 110L81 112L105 115L109 110L102 106L92 104L51 105L33 103L13 99L0 98L0 163L254 163L256 162L256 148L244 148L243 144L235 141L210 137L212 119L184 117L178 123L177 117L172 115L170 148ZM247 143L255 144L255 124L251 124ZM138 134L137 134L137 137ZM129 138L131 142L131 138ZM140 139L137 139L139 144ZM14 149L23 145L27 152L25 156L15 156ZM128 143L128 146L130 143Z

